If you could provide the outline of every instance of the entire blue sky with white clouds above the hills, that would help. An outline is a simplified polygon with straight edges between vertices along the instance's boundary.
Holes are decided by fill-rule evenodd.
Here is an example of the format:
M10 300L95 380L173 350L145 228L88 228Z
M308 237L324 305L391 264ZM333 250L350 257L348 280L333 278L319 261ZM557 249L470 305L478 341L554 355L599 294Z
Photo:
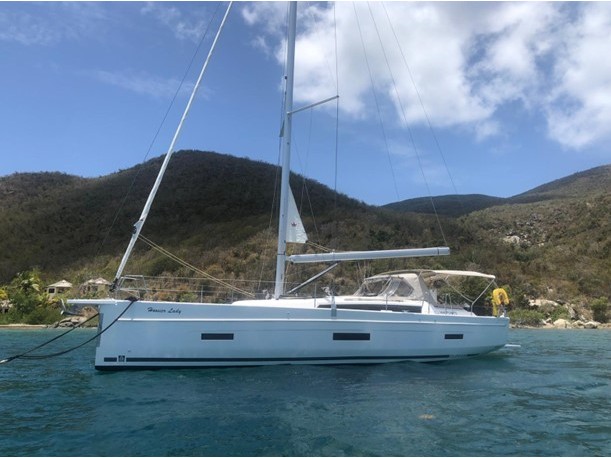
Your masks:
M142 162L211 24L148 158L165 153L225 7L0 2L0 176ZM178 149L277 163L285 17L234 4ZM340 98L296 115L296 172L378 205L509 197L611 162L611 3L304 3L299 18L296 106Z

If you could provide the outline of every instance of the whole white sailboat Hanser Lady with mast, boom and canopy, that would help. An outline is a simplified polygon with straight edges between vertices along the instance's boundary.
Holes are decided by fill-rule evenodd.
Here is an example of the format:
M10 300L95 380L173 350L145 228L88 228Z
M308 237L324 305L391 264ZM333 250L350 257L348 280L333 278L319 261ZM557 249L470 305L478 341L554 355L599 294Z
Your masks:
M71 304L94 305L99 309L96 369L444 361L482 355L506 344L508 318L476 316L463 307L444 305L438 300L435 289L427 284L431 278L467 275L486 279L490 286L494 281L492 275L457 271L395 272L366 279L357 292L348 296L330 294L322 298L297 298L285 294L287 262L324 263L449 254L449 248L435 247L287 256L287 240L305 237L301 222L295 217L289 188L296 10L295 3L291 2L273 297L226 304L115 298L71 300ZM195 91L185 115L194 94ZM142 216L134 226L115 285L121 282L123 269L146 220L179 130L180 126Z

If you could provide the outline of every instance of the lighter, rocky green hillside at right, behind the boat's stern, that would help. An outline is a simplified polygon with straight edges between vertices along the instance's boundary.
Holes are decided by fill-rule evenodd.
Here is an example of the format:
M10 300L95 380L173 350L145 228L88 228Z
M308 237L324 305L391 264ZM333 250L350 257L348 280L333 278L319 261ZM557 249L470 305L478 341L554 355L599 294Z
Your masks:
M432 213L430 200L387 207ZM472 237L463 247L474 259L527 297L560 302L611 297L610 165L506 199L476 195L433 201L439 214L460 216L457 221Z

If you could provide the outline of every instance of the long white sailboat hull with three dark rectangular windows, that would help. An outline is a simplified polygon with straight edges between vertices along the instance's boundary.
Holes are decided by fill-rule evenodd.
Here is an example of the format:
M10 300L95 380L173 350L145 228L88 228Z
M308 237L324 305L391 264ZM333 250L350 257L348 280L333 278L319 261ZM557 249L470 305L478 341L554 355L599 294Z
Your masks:
M509 324L506 318L299 305L110 299L97 305L100 370L444 361L503 347Z

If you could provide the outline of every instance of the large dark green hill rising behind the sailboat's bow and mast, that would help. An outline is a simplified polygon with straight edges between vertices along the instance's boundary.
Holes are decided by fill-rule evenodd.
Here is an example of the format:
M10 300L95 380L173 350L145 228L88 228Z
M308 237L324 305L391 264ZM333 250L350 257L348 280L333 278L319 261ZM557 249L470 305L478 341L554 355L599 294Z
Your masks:
M48 282L59 277L73 282L99 275L112 278L161 161L156 158L95 179L49 173L0 179L0 250L5 253L0 283L33 267ZM204 269L244 278L253 269L263 269L271 278L277 171L232 156L179 152L143 235ZM292 177L292 186L311 239L329 247L412 245L420 241L430 219L422 216L406 223L405 216L388 215L298 176ZM253 250L271 250L264 267L250 265L260 257ZM177 267L138 244L127 272L157 275Z

